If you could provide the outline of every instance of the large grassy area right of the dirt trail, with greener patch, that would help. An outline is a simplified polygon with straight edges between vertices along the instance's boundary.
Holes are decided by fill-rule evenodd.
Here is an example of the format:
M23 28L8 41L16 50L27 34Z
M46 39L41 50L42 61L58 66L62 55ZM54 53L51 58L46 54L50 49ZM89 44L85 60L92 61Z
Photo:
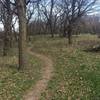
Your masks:
M90 52L100 44L92 35L66 38L34 37L33 51L50 56L54 76L41 100L100 100L100 52Z

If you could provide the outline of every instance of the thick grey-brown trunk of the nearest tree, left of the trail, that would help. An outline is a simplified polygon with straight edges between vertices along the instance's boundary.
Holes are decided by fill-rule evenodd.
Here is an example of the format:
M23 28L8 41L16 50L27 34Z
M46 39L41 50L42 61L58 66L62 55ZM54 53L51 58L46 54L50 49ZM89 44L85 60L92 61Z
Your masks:
M26 56L26 35L27 35L27 25L26 25L26 7L24 0L16 0L18 18L19 18L19 67L18 70L27 66Z

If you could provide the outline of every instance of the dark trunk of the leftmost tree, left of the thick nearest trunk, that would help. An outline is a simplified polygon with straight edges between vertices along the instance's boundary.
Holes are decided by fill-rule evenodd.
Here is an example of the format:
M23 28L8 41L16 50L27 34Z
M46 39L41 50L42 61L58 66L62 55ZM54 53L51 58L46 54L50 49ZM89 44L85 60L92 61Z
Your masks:
M3 56L7 56L9 49L12 47L12 14L10 0L6 0L6 7L4 8L4 47Z

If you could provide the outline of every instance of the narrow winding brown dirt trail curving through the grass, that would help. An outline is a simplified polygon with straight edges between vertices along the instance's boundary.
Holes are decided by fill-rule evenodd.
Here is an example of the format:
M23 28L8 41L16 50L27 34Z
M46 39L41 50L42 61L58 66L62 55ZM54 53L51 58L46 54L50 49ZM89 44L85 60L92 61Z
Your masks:
M42 68L42 78L39 80L36 85L33 87L26 96L24 96L24 100L39 100L41 97L41 93L45 91L49 80L52 78L53 75L53 62L50 58L37 54L31 51L31 48L28 49L28 52L38 57L40 60L43 61L44 67Z

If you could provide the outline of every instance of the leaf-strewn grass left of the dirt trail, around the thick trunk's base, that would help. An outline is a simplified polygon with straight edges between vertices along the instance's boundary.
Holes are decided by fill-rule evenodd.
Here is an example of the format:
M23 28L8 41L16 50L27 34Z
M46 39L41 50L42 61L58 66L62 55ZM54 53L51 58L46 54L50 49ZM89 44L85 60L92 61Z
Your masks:
M16 49L8 57L0 57L0 100L22 100L35 83L41 78L42 62L29 54L29 66L17 70Z

